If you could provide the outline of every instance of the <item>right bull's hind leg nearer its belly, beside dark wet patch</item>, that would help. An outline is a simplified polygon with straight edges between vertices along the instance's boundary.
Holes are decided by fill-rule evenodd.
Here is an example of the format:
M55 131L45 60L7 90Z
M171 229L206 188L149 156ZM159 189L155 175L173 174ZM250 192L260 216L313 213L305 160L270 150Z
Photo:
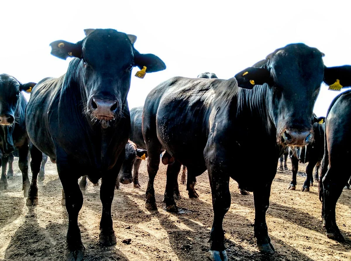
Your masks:
M167 165L166 171L166 189L164 202L166 203L166 209L169 212L178 212L178 207L176 201L174 201L174 190L178 185L178 174L180 171L181 163L179 161L174 161ZM178 190L179 193L179 190Z

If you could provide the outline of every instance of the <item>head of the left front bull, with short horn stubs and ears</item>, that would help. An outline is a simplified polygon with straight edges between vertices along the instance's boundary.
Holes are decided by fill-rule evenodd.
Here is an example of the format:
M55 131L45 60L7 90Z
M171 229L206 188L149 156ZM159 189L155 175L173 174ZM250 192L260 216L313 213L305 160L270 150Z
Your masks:
M86 93L86 113L92 119L108 122L122 116L134 66L146 66L147 73L166 66L153 54L140 54L133 47L137 39L134 35L113 29L86 29L85 34L76 44L52 42L51 54L61 59L80 59L77 70Z

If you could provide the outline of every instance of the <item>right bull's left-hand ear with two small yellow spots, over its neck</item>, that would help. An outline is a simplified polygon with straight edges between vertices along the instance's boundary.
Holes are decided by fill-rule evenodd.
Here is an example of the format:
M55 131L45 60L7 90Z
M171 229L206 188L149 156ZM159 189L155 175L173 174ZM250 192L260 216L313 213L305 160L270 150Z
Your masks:
M238 86L245 89L252 89L255 85L268 83L271 85L272 78L270 72L264 68L249 67L235 75Z

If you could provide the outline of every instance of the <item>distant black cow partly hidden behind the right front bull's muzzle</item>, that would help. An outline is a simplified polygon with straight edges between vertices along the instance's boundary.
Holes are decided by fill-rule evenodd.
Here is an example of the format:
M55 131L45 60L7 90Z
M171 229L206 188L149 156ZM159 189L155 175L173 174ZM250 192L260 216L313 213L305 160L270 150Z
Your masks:
M306 166L306 180L302 186L301 191L309 192L310 186L313 186L313 168L314 166L319 166L320 161L324 154L324 131L325 123L313 123L312 127L314 133L314 140L307 146L303 147L290 147L289 155L291 160L291 170L292 178L289 186L289 190L296 189L296 174L299 167L299 162L307 163ZM319 181L318 170L316 167L316 174L314 175L314 180Z

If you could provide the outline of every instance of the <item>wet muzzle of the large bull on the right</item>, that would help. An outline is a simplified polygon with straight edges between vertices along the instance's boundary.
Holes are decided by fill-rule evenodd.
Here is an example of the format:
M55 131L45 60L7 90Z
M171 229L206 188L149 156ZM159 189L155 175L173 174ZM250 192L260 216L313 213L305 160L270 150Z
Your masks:
M280 132L279 142L288 146L305 146L313 142L313 132L283 129Z

